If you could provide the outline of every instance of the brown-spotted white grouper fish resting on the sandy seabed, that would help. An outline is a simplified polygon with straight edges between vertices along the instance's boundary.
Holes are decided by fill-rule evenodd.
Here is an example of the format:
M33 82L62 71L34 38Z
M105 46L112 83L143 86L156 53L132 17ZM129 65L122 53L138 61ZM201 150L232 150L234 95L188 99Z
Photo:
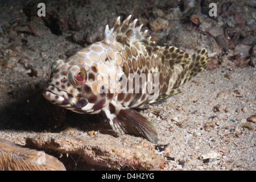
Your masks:
M190 56L174 46L157 46L131 15L105 28L105 38L50 67L43 96L81 114L106 115L119 136L132 134L159 140L149 118L134 108L152 108L181 92L208 63L205 48Z

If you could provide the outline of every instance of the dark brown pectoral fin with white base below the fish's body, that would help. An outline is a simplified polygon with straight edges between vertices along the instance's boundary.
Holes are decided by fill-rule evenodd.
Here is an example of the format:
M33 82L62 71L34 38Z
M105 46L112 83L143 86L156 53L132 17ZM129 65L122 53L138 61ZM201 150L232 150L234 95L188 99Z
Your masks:
M152 143L158 142L158 133L153 123L129 107L110 102L104 110L112 129L118 134L130 133L146 138Z

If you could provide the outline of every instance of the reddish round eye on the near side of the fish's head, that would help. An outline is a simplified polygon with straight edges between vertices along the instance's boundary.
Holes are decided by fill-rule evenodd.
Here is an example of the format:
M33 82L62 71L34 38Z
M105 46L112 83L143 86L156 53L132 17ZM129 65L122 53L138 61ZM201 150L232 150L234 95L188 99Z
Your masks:
M73 66L73 68L69 71L69 82L71 85L75 87L81 87L85 85L85 82L87 80L87 73L85 69Z

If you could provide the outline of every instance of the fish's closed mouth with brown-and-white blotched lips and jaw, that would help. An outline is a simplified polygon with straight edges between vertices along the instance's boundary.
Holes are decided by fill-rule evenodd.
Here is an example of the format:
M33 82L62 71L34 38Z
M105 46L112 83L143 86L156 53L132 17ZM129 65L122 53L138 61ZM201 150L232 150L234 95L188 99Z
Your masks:
M43 90L43 96L51 103L70 110L75 108L82 111L82 108L88 104L86 98L74 96L52 85L46 86L45 90Z

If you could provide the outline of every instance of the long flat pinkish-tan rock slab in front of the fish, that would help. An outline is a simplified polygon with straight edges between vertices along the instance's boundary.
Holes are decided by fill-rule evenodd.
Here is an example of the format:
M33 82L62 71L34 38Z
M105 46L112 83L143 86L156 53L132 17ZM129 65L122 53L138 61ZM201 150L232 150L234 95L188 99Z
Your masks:
M38 133L27 137L28 146L48 148L61 154L77 154L93 165L112 169L130 168L141 170L159 170L164 166L164 158L158 155L154 144L120 140L100 133L95 135L77 135L61 133Z

